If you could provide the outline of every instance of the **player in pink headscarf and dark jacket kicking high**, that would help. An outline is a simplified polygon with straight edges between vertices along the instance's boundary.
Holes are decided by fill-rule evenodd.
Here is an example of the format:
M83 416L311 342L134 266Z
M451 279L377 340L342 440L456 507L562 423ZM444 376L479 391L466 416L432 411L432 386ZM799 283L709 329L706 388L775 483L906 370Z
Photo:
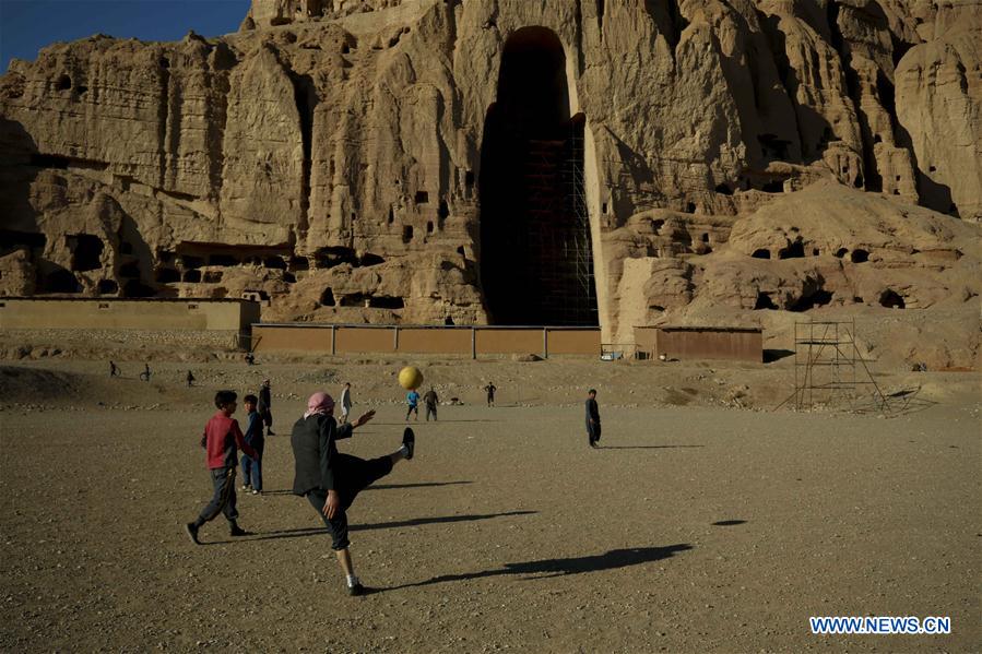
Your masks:
M293 426L291 445L296 463L293 492L306 497L324 521L332 537L331 549L347 579L351 595L363 595L366 590L355 575L347 538L347 508L358 492L392 472L392 466L403 459L413 457L415 436L406 428L402 447L392 454L368 461L342 454L336 441L351 438L353 431L375 417L369 411L354 423L338 426L333 417L334 400L317 392L307 401L307 412Z

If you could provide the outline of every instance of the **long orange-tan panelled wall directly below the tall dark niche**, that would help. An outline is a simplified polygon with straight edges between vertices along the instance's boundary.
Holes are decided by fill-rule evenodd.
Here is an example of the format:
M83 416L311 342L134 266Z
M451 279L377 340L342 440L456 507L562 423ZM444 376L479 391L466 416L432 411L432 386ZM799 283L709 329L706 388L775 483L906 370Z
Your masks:
M599 328L253 324L256 352L600 355Z

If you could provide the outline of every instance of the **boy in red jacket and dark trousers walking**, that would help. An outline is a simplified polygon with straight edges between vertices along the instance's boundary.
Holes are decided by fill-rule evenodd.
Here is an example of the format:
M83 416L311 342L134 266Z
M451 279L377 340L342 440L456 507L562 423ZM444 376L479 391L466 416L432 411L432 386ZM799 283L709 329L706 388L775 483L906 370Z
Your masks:
M201 437L201 447L208 452L208 467L215 494L198 520L185 525L185 531L194 545L200 545L198 530L201 525L216 518L218 513L224 513L228 520L230 535L248 534L235 522L238 518L238 511L235 510L235 466L238 450L253 459L258 459L259 455L246 442L238 421L232 417L237 406L236 400L238 395L234 391L215 393L215 406L218 411L204 426L204 436Z

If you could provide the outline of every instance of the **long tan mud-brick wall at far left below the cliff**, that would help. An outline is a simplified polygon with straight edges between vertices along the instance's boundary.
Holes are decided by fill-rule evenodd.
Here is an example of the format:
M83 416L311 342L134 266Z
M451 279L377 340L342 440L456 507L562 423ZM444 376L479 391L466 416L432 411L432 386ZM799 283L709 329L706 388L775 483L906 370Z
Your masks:
M248 300L0 298L0 329L199 330L247 332Z

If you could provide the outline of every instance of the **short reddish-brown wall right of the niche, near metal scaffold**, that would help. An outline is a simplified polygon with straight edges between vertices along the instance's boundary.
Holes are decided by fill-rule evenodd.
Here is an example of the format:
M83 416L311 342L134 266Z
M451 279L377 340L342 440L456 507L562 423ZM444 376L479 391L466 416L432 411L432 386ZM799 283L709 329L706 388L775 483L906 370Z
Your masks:
M759 328L635 328L637 352L648 358L729 359L761 362L764 332Z

